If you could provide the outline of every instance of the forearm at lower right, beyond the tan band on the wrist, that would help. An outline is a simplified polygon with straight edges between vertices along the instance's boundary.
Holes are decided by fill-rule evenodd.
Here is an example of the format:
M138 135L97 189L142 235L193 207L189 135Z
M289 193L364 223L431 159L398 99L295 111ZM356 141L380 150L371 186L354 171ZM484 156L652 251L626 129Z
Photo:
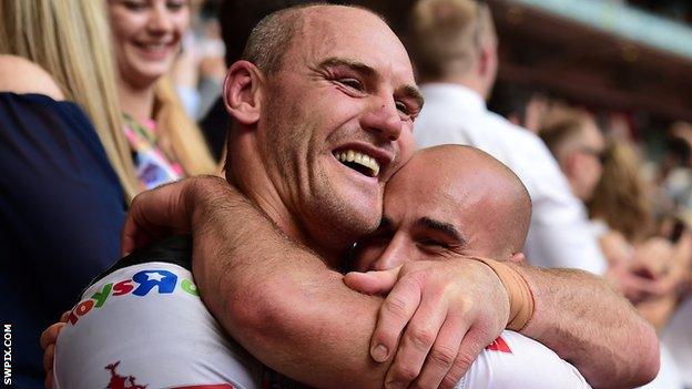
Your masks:
M639 386L655 377L653 328L606 281L582 270L510 266L529 281L536 300L522 335L572 362L594 388Z

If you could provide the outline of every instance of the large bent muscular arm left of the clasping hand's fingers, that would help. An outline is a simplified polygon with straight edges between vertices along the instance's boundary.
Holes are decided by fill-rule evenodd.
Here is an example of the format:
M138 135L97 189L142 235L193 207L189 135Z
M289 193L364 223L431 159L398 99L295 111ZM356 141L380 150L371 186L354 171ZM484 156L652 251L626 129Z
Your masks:
M192 221L202 299L244 348L314 387L381 388L387 365L368 354L380 298L350 290L243 199L206 202Z

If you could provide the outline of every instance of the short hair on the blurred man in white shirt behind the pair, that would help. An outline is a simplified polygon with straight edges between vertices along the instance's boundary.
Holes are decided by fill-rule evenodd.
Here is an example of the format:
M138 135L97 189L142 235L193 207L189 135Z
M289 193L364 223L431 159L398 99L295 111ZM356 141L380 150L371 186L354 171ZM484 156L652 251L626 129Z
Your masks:
M474 0L421 0L413 11L410 53L424 81L467 71L495 42L490 10Z

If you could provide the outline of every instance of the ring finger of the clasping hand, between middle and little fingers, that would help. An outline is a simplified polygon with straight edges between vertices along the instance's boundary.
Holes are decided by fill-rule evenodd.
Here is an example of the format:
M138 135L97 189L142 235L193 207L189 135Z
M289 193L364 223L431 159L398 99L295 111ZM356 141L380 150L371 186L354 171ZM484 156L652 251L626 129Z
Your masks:
M461 339L464 339L467 330L468 326L462 320L448 315L416 380L416 388L439 387L456 360ZM450 377L450 379L452 378Z

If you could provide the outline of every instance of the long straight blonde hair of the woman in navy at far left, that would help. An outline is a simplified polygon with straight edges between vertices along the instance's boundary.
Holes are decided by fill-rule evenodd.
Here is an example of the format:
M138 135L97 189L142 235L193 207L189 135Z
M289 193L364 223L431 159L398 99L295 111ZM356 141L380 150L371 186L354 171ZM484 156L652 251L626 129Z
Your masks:
M140 192L122 130L110 27L100 0L0 0L0 53L48 71L91 119L126 201Z

